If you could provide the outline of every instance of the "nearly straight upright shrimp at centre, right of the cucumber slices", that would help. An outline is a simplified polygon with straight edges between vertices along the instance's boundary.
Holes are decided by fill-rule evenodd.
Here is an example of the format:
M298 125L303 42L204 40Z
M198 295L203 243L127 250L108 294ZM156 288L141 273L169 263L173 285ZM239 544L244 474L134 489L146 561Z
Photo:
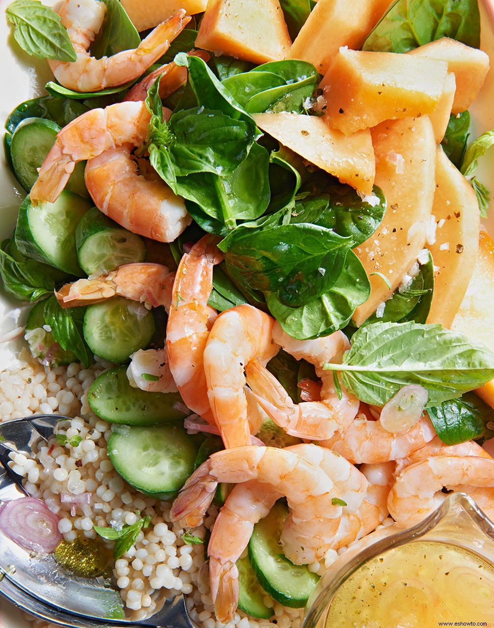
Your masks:
M216 315L208 305L213 289L213 266L223 259L215 236L204 236L180 260L173 283L166 325L169 367L183 402L208 423L211 412L203 354Z

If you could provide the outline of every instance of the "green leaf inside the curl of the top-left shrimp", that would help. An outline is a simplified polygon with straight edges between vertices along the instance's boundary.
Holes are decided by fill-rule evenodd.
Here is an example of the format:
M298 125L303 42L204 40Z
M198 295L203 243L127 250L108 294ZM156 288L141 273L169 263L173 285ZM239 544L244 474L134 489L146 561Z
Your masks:
M141 38L122 4L119 0L102 1L106 5L105 19L91 44L91 55L100 59L137 48Z

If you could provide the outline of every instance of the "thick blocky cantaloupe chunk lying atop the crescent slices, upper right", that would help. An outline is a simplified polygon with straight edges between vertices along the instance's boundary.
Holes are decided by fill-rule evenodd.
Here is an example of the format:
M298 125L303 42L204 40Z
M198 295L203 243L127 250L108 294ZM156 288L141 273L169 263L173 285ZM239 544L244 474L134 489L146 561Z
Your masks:
M319 85L326 124L350 135L384 120L432 113L443 96L448 64L418 61L392 52L340 48Z

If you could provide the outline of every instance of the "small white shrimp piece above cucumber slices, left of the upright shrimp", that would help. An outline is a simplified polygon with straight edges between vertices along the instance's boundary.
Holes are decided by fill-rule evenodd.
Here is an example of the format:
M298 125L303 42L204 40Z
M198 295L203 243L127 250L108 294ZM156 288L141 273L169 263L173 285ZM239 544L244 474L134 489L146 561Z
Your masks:
M169 369L166 349L136 351L131 356L131 363L127 367L127 379L132 387L150 393L176 393L178 391Z

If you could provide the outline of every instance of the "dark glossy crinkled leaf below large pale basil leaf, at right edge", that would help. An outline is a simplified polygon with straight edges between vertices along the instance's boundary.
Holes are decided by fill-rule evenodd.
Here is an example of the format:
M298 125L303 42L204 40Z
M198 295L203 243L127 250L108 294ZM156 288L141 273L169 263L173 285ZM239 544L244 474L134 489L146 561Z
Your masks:
M475 393L443 401L427 411L434 430L446 445L465 443L473 438L494 436L494 409Z

